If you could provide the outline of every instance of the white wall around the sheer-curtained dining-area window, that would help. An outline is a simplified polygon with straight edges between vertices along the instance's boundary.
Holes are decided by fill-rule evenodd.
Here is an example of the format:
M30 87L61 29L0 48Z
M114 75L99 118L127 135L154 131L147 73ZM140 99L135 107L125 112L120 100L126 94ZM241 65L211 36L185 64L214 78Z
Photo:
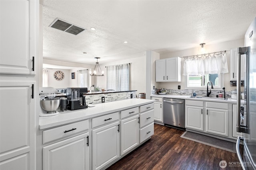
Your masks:
M146 92L146 56L120 60L111 63L100 64L102 71L106 74L106 67L110 65L126 64L130 63L130 90L137 90L136 94ZM99 86L100 88L106 89L106 76L95 77L94 85ZM106 89L107 90L107 89Z

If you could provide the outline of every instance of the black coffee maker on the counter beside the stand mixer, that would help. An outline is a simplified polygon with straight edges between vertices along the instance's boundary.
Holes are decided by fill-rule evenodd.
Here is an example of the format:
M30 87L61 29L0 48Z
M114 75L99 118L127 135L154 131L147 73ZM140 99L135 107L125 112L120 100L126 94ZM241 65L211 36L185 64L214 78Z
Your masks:
M87 92L87 88L67 88L68 110L88 108L84 96Z

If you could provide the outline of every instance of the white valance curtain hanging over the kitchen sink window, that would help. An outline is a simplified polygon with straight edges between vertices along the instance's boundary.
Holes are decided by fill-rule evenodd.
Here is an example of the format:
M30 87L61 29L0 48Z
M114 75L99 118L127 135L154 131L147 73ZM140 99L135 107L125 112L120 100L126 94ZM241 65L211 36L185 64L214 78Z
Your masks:
M184 60L183 75L228 73L226 53Z

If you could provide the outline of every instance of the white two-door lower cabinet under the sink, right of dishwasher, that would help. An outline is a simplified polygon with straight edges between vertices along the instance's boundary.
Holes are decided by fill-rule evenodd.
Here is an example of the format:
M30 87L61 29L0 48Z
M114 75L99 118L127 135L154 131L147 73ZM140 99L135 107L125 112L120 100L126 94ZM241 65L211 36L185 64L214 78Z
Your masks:
M195 100L185 103L186 128L228 137L228 103Z

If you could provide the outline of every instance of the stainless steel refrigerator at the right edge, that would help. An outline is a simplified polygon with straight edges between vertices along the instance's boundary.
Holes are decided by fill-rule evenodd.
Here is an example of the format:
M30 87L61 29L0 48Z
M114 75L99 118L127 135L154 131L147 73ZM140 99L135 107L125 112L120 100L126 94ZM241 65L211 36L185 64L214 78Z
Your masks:
M238 48L237 93L240 94L241 55L244 55L244 100L237 100L238 137L236 152L244 170L256 170L256 18L244 36L244 46ZM239 107L241 106L241 107ZM240 139L243 140L243 154L239 151Z

